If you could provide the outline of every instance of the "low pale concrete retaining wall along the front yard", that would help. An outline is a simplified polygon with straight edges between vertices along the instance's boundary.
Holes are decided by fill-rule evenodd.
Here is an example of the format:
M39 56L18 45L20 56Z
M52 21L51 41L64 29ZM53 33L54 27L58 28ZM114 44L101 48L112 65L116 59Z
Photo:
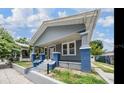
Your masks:
M24 68L17 64L12 64L13 69L23 74L27 79L31 80L35 84L64 84L58 80L45 76L41 73L38 73L33 70L29 70L29 68Z

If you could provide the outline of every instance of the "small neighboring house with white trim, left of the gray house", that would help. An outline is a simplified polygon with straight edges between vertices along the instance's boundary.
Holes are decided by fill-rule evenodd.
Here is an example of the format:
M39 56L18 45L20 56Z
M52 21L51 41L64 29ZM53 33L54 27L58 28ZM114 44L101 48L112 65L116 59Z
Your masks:
M19 61L31 61L30 60L30 51L29 51L29 45L27 44L22 44L16 42L18 46L20 46L20 55L19 55ZM15 55L16 58L16 55Z

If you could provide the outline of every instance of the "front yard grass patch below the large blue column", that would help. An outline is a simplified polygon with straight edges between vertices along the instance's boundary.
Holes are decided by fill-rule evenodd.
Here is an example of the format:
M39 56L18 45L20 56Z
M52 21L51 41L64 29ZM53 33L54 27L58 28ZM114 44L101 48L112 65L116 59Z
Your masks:
M106 82L96 74L75 74L72 71L53 70L53 77L68 84L105 84Z

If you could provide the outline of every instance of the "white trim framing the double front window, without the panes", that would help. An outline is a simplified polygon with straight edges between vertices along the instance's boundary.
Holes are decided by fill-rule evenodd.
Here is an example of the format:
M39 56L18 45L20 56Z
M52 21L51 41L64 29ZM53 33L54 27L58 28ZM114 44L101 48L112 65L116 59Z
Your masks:
M74 54L70 54L70 49L69 49L69 44L70 43L74 43ZM67 54L63 54L63 45L64 44L67 44ZM62 51L62 56L76 56L76 41L70 41L70 42L65 42L65 43L62 43L62 46L61 46L61 51Z

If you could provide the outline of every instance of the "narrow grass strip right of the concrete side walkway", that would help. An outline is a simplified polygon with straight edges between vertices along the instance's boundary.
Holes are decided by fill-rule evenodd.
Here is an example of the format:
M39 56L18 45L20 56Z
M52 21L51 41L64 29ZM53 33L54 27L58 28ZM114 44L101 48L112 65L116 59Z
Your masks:
M106 64L106 63L101 63L101 62L93 62L93 64L95 64L97 67L99 67L100 69L102 69L105 72L108 73L114 73L114 66Z

